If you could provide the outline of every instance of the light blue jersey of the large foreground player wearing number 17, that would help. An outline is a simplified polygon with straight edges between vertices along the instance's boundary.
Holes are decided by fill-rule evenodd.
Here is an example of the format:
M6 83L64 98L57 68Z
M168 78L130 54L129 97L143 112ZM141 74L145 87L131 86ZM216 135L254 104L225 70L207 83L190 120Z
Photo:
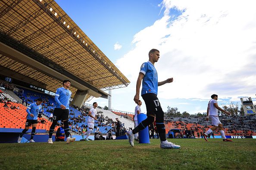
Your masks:
M158 78L154 65L150 61L143 63L140 67L140 73L144 74L141 95L146 93L154 93L157 95Z

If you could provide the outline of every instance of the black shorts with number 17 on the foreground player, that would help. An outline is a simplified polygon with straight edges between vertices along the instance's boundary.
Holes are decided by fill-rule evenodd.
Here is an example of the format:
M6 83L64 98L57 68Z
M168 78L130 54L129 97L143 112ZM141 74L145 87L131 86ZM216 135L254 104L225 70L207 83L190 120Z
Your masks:
M141 95L146 108L147 108L147 116L153 115L156 116L156 122L157 123L163 123L164 122L164 112L162 111L161 104L154 93L146 93Z

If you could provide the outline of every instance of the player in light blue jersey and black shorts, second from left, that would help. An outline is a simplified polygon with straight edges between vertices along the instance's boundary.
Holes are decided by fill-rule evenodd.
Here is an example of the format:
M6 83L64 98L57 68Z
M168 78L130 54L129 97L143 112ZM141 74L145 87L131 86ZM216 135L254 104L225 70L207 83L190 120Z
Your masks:
M69 90L71 82L64 80L63 87L57 88L55 93L56 108L53 110L53 123L50 126L48 143L53 143L52 136L54 128L59 120L64 124L64 131L66 135L66 143L69 144L75 141L75 137L69 137L69 100L71 98L71 91Z

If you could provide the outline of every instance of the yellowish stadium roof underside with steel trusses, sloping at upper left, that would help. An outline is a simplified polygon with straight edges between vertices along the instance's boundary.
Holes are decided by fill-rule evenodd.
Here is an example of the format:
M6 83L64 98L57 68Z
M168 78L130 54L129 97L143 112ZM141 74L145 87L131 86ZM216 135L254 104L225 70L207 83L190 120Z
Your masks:
M0 6L0 32L42 58L98 89L130 83L54 0L0 0ZM59 87L59 81L33 67L10 56L0 58L0 66L44 83L47 90Z

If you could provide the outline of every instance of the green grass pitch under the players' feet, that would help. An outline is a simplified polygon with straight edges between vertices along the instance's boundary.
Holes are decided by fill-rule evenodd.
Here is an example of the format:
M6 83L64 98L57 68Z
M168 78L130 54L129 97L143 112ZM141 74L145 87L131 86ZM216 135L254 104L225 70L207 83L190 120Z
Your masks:
M0 144L0 169L250 169L256 140L173 139L181 149L160 149L159 140L134 147L128 140Z

